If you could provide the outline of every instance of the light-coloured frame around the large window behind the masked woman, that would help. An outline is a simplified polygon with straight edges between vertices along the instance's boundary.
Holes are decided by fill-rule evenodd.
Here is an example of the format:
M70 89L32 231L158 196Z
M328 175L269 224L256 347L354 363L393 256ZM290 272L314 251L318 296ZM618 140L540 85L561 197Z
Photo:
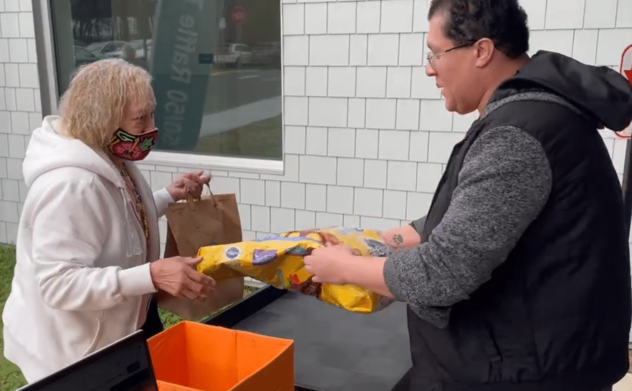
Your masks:
M40 83L42 115L58 115L60 91L58 89L58 69L56 48L54 44L52 1L70 0L31 0L33 4L33 20L35 21L35 43L37 68ZM281 1L281 0L276 0ZM283 36L283 4L279 5L281 13L281 49L284 46ZM284 68L281 51L281 118L284 118ZM152 151L140 162L143 165L160 165L168 167L194 168L200 170L221 170L235 172L252 172L256 174L284 174L285 164L285 125L281 122L281 160L264 160L250 157L225 157L201 155L182 152Z

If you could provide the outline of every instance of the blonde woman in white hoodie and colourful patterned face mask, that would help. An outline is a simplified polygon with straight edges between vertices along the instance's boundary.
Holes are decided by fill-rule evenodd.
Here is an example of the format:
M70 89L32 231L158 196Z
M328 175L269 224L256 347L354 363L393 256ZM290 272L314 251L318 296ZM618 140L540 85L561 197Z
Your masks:
M141 328L158 289L200 300L214 291L192 269L200 259L158 259L158 217L187 192L199 196L210 177L184 174L150 191L133 163L157 137L150 81L125 61L84 66L61 98L61 115L33 132L2 317L4 355L29 382Z

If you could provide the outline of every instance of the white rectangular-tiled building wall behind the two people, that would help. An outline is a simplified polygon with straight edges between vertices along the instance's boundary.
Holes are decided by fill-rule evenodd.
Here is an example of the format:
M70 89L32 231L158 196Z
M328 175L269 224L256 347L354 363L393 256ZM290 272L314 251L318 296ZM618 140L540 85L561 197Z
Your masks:
M519 2L529 53L618 67L632 43L632 1ZM452 146L477 117L447 113L425 75L428 0L282 6L284 173L213 171L214 192L237 194L244 240L314 226L385 229L425 214ZM21 162L41 124L33 36L31 1L0 0L0 242L15 241ZM606 145L621 172L625 143ZM141 168L152 189L185 170Z

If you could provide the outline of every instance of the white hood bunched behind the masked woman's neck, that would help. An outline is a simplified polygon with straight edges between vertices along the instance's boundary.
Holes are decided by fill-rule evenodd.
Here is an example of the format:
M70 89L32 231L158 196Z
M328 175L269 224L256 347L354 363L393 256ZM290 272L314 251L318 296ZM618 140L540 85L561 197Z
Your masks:
M108 179L117 187L123 187L123 179L104 152L96 152L80 140L60 135L59 117L48 115L42 126L33 131L22 172L26 186L44 172L59 167L80 167Z

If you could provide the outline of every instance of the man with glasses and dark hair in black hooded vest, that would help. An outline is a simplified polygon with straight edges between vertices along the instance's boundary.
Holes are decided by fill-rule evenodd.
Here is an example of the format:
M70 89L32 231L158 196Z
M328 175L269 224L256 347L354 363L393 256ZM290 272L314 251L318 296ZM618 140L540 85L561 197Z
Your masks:
M480 117L428 214L358 259L328 246L314 281L408 303L415 391L599 391L628 369L631 278L618 177L597 129L632 120L606 67L527 55L517 0L433 0L426 73Z

